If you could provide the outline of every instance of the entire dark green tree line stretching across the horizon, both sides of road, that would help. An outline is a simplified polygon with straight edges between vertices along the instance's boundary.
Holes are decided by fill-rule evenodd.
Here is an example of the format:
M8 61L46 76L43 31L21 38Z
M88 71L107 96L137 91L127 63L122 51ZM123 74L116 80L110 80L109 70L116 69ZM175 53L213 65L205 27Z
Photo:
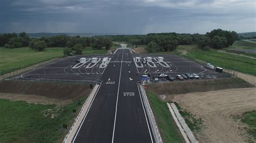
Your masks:
M178 45L195 44L202 49L224 48L232 46L238 40L235 31L225 31L221 29L212 30L206 34L178 34L172 33L149 33L146 35L104 35L96 37L70 37L67 35L57 35L53 37L30 38L25 32L16 34L0 34L0 46L6 48L19 48L29 46L31 49L42 51L45 47L67 47L65 54L75 51L81 54L84 47L95 49L110 49L112 41L127 42L132 45L147 45L149 52L173 51Z

